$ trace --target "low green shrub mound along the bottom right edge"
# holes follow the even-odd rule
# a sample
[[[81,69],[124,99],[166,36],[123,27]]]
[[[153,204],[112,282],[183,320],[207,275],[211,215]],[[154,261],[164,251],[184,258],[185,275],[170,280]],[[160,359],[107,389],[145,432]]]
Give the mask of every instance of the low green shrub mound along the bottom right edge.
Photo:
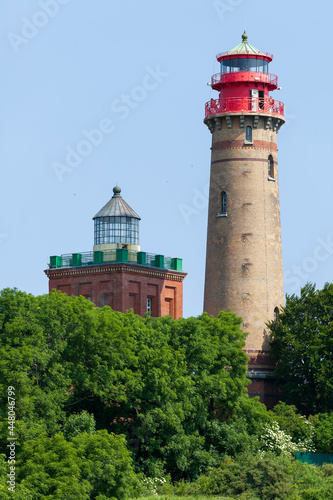
[[[241,455],[237,460],[223,460],[191,484],[180,482],[171,491],[164,491],[250,500],[330,500],[333,465],[319,468],[285,455]]]

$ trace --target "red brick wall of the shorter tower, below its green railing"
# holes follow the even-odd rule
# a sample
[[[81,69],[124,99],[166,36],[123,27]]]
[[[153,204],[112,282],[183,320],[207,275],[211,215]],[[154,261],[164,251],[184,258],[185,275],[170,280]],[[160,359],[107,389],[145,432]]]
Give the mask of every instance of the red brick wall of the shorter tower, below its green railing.
[[[99,307],[109,305],[125,313],[133,309],[144,316],[147,298],[152,301],[152,316],[183,315],[183,279],[177,271],[152,269],[131,264],[99,265],[48,269],[49,290],[67,295],[83,295]]]

